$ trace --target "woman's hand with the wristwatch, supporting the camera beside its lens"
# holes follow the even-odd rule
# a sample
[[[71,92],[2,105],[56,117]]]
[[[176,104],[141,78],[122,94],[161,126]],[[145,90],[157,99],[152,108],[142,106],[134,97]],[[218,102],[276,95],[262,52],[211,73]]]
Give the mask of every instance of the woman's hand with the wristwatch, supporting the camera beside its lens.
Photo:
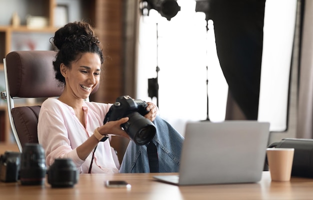
[[[122,130],[122,128],[120,127],[121,124],[124,124],[127,121],[128,121],[128,117],[124,117],[116,121],[106,122],[106,124],[98,128],[98,131],[101,135],[112,134],[112,135],[117,135],[117,136],[130,139],[128,134],[124,130]]]

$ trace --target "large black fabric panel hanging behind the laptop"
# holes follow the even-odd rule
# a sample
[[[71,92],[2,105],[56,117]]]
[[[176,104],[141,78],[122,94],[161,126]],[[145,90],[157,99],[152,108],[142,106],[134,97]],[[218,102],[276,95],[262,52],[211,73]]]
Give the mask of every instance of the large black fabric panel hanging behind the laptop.
[[[231,100],[241,110],[231,116],[226,111],[226,119],[242,119],[243,114],[257,120],[265,0],[207,2],[206,19],[213,20],[217,56],[228,84],[226,110],[231,110]]]

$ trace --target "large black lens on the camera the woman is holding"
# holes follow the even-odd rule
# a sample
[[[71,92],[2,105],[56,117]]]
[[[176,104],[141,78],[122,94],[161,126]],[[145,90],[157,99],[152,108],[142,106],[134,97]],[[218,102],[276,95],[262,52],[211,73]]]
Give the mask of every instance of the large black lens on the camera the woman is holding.
[[[138,112],[132,112],[126,117],[129,119],[122,127],[136,145],[145,145],[153,139],[156,129],[150,120]]]

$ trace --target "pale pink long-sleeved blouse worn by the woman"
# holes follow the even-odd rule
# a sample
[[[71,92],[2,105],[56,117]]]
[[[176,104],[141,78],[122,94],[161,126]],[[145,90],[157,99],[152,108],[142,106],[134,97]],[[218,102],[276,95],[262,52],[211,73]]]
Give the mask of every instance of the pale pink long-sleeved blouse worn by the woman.
[[[84,102],[84,128],[70,106],[54,98],[45,100],[39,113],[38,141],[45,151],[47,167],[52,165],[55,158],[70,158],[80,173],[88,173],[92,152],[83,161],[79,159],[76,148],[92,136],[97,127],[103,125],[110,106],[111,104]],[[118,173],[109,140],[98,143],[91,173]]]

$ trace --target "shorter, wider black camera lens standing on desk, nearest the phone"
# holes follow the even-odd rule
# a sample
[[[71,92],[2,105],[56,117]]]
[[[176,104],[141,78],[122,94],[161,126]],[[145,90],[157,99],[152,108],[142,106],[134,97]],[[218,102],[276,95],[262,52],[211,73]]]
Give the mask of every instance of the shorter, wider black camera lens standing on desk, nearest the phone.
[[[48,170],[52,188],[72,188],[78,181],[77,168],[71,159],[55,159]]]

